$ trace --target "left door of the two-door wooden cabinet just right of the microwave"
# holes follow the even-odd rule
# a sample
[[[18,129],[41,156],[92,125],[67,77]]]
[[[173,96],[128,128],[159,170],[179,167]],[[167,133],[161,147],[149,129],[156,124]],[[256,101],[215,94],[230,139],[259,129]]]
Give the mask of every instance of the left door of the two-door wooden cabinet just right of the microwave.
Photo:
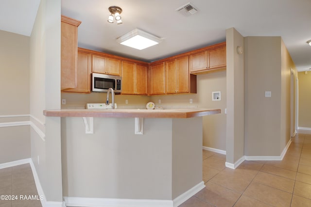
[[[122,61],[122,94],[135,94],[135,64]]]

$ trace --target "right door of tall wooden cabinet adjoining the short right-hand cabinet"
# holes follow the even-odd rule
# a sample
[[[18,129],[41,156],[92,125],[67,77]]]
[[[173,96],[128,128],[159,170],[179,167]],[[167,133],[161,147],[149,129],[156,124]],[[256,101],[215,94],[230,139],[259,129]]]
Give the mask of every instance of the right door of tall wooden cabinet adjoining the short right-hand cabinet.
[[[177,92],[189,92],[189,57],[176,59]]]

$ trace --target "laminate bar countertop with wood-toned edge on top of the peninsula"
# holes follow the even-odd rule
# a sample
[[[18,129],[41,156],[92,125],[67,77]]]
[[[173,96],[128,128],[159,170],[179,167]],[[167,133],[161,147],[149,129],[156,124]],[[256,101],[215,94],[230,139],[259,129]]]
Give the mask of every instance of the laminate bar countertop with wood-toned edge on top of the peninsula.
[[[66,109],[66,110],[44,110],[45,116],[59,117],[138,117],[138,118],[191,118],[221,113],[220,109]]]

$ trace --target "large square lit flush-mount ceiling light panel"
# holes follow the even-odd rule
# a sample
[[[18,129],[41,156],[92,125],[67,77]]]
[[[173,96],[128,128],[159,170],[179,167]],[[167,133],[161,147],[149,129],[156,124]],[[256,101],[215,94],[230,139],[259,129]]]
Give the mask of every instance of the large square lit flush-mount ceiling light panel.
[[[117,42],[121,45],[141,50],[159,44],[162,42],[162,39],[139,29],[135,29],[119,37]]]

